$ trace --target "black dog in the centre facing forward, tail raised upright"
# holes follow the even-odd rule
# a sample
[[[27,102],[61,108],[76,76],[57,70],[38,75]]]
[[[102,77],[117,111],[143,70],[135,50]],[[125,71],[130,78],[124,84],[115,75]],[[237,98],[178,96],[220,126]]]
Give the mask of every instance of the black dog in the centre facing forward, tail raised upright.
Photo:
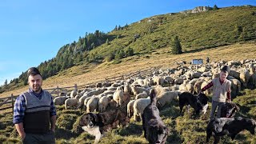
[[[150,90],[150,104],[146,106],[142,114],[142,126],[144,130],[144,137],[150,144],[166,143],[169,129],[162,122],[159,115],[156,94],[154,90]]]

